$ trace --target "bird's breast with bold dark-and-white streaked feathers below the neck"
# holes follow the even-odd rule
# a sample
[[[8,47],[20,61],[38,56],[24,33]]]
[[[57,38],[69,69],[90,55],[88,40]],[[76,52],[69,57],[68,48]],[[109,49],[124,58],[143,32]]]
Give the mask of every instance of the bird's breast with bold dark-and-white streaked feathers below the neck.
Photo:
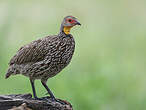
[[[47,63],[53,66],[64,68],[69,64],[75,49],[73,38],[64,38],[58,41],[52,50],[49,50]]]

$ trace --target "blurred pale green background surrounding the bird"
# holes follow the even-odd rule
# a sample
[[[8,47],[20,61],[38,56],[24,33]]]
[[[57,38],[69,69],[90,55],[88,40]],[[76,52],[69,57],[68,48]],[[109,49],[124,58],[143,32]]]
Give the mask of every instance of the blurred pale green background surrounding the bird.
[[[0,94],[32,93],[28,78],[5,80],[10,58],[33,40],[59,32],[66,15],[76,50],[48,86],[75,110],[145,110],[146,0],[1,0]],[[36,81],[38,96],[46,90]]]

